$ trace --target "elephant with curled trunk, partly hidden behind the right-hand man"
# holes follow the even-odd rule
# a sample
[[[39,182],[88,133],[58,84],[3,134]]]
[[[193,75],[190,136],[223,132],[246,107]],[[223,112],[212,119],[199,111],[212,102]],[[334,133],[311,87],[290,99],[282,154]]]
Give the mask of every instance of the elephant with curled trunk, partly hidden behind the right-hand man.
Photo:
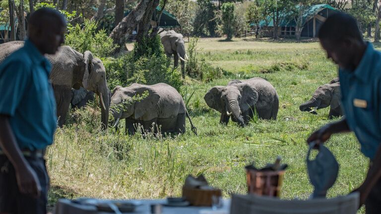
[[[324,84],[319,86],[312,95],[312,98],[300,105],[299,109],[301,111],[318,114],[316,113],[317,109],[326,108],[330,105],[331,108],[329,110],[328,119],[332,119],[333,116],[338,117],[343,115],[340,107],[340,98],[340,82]]]

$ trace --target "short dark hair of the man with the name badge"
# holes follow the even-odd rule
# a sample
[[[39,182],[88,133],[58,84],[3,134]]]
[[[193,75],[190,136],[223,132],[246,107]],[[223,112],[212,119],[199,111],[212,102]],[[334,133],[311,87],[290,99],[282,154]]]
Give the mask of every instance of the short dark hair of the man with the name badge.
[[[363,40],[356,20],[343,12],[336,12],[325,20],[319,29],[318,38],[330,41],[340,41],[345,38]]]

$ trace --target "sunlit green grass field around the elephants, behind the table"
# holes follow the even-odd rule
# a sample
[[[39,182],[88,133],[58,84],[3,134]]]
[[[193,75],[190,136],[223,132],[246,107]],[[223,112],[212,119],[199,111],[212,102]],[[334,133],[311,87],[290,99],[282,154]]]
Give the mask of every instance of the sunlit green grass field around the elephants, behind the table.
[[[306,139],[327,120],[329,109],[318,115],[300,112],[321,84],[336,76],[317,42],[289,43],[268,41],[219,42],[200,39],[199,59],[231,73],[208,83],[187,79],[192,121],[198,136],[191,132],[174,138],[140,135],[128,137],[112,130],[101,132],[99,109],[81,110],[78,122],[69,122],[56,133],[47,152],[52,185],[50,202],[59,197],[164,198],[181,195],[188,174],[204,173],[223,196],[246,193],[244,166],[263,166],[281,155],[289,164],[282,198],[307,199],[312,193],[306,170]],[[234,123],[222,126],[219,114],[208,108],[204,94],[215,85],[226,85],[233,78],[263,77],[279,95],[276,121],[259,120],[245,128]],[[124,124],[124,123],[121,123]],[[124,130],[121,128],[121,130]],[[367,172],[368,160],[359,151],[351,134],[336,135],[326,145],[336,156],[339,176],[328,196],[345,195],[358,187]],[[361,211],[360,213],[363,213]]]

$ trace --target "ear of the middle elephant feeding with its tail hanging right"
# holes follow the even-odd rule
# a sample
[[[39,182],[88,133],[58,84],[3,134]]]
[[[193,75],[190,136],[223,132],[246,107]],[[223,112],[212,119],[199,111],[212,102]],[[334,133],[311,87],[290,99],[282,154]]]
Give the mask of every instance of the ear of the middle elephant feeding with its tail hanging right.
[[[135,94],[141,95],[144,91],[148,91],[148,96],[143,100],[136,102],[134,105],[135,119],[142,117],[147,111],[152,111],[160,99],[160,95],[151,89],[145,88],[141,91],[136,91]]]

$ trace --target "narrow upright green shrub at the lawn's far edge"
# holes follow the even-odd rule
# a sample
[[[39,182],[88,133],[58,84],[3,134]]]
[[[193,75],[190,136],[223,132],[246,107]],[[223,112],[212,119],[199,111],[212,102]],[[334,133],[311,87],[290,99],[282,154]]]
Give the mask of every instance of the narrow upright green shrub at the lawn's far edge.
[[[227,2],[221,6],[223,32],[226,34],[226,40],[232,40],[235,32],[235,6],[234,3]]]

